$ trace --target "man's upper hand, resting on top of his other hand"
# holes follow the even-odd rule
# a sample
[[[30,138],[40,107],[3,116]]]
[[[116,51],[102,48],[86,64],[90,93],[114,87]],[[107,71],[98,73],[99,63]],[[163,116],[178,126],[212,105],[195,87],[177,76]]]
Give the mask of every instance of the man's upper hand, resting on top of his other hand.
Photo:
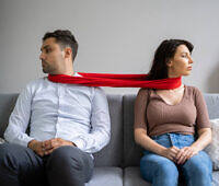
[[[45,149],[44,154],[48,155],[50,154],[55,149],[61,147],[61,146],[76,146],[71,141],[64,140],[61,138],[54,138],[50,140],[43,141],[43,148]]]

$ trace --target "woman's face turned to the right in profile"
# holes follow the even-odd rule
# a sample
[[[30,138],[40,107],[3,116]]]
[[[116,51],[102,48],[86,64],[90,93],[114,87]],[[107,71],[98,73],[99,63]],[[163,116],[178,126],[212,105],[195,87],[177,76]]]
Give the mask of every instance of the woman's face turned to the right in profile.
[[[169,78],[191,74],[193,59],[186,45],[180,45],[174,57],[166,65]]]

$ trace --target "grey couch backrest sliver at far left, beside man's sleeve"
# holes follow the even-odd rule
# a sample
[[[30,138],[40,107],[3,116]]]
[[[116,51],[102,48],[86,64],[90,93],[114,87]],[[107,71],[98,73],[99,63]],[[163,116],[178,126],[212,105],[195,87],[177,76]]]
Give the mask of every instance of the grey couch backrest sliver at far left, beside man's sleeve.
[[[0,94],[0,138],[3,138],[16,98],[18,94]]]

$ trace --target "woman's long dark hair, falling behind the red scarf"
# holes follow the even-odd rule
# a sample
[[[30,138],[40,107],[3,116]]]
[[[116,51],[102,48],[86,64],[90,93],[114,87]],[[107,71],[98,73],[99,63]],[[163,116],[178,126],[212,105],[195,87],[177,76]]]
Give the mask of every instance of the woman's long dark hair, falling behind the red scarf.
[[[148,80],[159,80],[168,78],[168,62],[174,57],[180,45],[185,45],[188,50],[193,51],[193,44],[182,39],[165,39],[155,50],[151,70],[149,71]]]

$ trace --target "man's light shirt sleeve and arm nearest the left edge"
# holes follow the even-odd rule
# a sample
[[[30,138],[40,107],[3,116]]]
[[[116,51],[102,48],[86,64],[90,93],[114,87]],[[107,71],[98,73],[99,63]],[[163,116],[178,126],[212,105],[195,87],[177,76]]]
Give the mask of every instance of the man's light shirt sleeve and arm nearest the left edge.
[[[33,140],[25,133],[31,116],[31,103],[32,93],[31,88],[27,85],[19,95],[15,107],[9,118],[9,125],[4,132],[4,139],[8,142],[27,147],[27,143]]]

